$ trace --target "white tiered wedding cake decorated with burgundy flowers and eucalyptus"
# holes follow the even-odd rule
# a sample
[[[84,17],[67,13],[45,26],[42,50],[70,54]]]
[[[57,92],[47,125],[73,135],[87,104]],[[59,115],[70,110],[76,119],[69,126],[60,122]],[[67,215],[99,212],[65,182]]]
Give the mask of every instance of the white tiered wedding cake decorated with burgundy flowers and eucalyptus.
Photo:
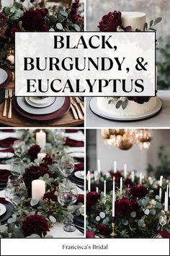
[[[132,31],[145,29],[146,14],[143,12],[122,12],[122,26],[131,27]],[[126,107],[116,107],[117,101],[128,101]],[[112,114],[113,116],[138,116],[140,114],[147,114],[156,108],[156,97],[98,97],[97,106],[104,112]]]

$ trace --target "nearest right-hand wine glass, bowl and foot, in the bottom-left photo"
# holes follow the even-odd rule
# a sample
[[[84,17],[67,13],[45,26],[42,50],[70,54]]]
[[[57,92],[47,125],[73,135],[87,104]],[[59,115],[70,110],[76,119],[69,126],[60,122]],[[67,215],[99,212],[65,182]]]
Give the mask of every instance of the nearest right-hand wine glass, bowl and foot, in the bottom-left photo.
[[[78,191],[76,188],[76,184],[72,182],[61,183],[58,186],[58,202],[62,206],[68,207],[68,205],[73,205],[76,202],[78,197]],[[63,230],[66,232],[73,232],[76,230],[75,226],[73,226],[72,220],[69,219],[68,223],[63,227]]]

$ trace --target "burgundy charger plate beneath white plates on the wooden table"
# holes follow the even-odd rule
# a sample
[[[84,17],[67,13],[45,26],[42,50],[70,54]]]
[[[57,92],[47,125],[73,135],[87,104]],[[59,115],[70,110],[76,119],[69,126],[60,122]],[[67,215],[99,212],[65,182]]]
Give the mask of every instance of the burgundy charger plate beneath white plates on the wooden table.
[[[14,109],[22,116],[27,117],[28,119],[33,119],[37,121],[48,121],[48,120],[53,120],[53,119],[58,119],[59,117],[63,116],[68,112],[71,106],[71,100],[69,97],[65,97],[63,106],[59,108],[57,111],[51,113],[51,114],[45,114],[45,115],[34,115],[34,114],[29,114],[26,111],[22,110],[17,104],[17,98],[13,98],[13,106]]]

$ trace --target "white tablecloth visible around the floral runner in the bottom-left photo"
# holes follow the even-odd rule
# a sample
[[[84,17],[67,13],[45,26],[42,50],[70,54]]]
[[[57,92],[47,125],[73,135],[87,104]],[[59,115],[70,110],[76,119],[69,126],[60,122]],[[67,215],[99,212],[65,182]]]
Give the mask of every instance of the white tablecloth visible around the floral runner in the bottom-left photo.
[[[18,137],[18,133],[17,132],[0,132],[0,140],[3,140],[7,137]],[[81,131],[71,132],[71,133],[67,132],[66,137],[69,137],[73,140],[83,140],[84,141],[84,134]],[[67,151],[84,152],[84,147],[77,147],[77,148],[68,147]],[[0,164],[0,169],[1,168],[6,168],[6,169],[9,170],[10,165]],[[79,194],[84,194],[84,191],[82,189],[80,189],[79,187],[77,187],[77,189],[78,189]],[[5,197],[5,191],[4,190],[0,191],[0,197]],[[61,237],[63,237],[63,238],[81,238],[81,237],[84,237],[84,234],[82,234],[77,229],[76,229],[76,231],[71,232],[71,233],[64,231],[63,226],[64,226],[63,223],[56,223],[55,226],[53,226],[53,228],[50,229],[48,234],[52,235],[53,237],[56,237],[56,238],[61,238]]]

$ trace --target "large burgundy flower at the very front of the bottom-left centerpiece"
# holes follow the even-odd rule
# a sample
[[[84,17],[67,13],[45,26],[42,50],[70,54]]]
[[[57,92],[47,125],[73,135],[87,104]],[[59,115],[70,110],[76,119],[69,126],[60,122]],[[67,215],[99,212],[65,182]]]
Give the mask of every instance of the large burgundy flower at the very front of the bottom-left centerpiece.
[[[22,221],[22,230],[24,231],[24,236],[38,234],[41,237],[42,235],[45,236],[47,231],[50,231],[48,221],[38,214],[27,216],[24,221]]]

